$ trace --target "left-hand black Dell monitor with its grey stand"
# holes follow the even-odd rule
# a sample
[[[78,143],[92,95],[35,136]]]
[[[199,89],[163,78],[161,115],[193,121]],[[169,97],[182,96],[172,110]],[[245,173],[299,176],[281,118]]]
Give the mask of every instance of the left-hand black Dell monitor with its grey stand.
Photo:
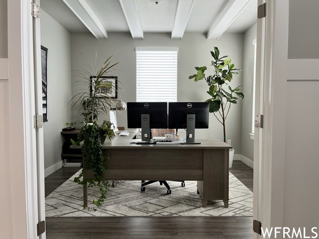
[[[142,128],[142,140],[151,141],[151,128],[167,128],[166,102],[128,102],[128,128]]]

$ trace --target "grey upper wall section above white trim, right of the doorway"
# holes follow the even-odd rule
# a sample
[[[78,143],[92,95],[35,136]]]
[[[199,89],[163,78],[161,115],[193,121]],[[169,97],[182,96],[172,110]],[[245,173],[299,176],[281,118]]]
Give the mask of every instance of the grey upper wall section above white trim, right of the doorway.
[[[289,1],[289,59],[319,59],[319,1]]]

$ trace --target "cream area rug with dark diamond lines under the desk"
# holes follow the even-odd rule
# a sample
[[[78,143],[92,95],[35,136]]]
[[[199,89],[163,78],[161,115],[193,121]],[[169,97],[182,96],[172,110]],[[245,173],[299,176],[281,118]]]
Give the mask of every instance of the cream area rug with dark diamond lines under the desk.
[[[208,202],[202,207],[196,193],[196,181],[168,181],[171,194],[166,194],[159,182],[146,186],[141,192],[141,181],[117,181],[110,187],[103,205],[94,211],[92,199],[97,199],[98,189],[88,189],[89,209],[83,209],[83,187],[73,182],[74,174],[45,198],[46,217],[108,217],[108,216],[252,216],[253,193],[233,174],[229,173],[229,207],[223,201]]]

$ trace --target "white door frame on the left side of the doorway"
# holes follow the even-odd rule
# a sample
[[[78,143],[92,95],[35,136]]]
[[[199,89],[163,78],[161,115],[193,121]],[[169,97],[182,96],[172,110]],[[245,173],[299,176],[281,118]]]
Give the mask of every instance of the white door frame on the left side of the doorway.
[[[40,239],[37,236],[39,208],[36,129],[33,119],[35,99],[31,2],[7,1],[10,119],[8,140],[13,196],[11,230],[14,238],[20,239]]]

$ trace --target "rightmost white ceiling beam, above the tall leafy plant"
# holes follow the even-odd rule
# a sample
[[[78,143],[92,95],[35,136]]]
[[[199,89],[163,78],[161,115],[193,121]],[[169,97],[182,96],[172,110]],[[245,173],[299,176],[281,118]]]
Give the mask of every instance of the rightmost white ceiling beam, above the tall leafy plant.
[[[207,33],[207,39],[218,39],[251,0],[229,0]]]

